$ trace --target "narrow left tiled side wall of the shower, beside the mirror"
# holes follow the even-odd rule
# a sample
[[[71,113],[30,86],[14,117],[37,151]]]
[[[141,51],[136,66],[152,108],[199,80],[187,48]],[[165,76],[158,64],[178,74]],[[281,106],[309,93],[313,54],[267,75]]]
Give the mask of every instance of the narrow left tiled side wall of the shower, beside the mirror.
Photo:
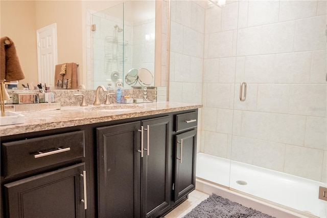
[[[202,103],[206,1],[171,1],[169,101]],[[197,149],[201,142],[201,108]]]

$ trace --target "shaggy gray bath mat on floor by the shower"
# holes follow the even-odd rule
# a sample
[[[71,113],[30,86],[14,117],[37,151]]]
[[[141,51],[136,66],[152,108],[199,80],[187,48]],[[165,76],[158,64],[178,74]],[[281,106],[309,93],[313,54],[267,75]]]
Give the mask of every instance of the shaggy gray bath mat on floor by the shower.
[[[262,213],[252,208],[244,207],[236,202],[224,199],[217,194],[212,194],[209,198],[202,201],[184,218],[216,218],[216,217],[264,217],[272,218],[273,216]]]

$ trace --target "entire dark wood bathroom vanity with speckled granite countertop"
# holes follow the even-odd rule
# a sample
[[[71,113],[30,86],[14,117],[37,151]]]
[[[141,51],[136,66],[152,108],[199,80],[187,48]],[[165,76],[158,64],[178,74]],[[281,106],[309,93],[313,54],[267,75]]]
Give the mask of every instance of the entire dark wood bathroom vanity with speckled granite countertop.
[[[1,126],[1,217],[159,217],[195,189],[199,104],[69,106]]]

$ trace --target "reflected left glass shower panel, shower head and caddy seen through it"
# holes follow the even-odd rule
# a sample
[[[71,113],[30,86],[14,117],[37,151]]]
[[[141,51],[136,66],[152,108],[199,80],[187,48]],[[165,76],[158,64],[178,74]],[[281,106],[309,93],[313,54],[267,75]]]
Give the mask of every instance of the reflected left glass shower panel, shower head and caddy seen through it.
[[[123,79],[124,72],[124,4],[120,4],[92,15],[96,31],[93,32],[94,89]]]

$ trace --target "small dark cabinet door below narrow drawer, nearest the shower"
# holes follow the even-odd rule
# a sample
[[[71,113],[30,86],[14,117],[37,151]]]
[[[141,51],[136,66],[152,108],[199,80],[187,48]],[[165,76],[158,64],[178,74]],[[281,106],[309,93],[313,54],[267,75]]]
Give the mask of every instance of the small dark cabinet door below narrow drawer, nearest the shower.
[[[176,136],[174,201],[195,189],[196,129]]]

